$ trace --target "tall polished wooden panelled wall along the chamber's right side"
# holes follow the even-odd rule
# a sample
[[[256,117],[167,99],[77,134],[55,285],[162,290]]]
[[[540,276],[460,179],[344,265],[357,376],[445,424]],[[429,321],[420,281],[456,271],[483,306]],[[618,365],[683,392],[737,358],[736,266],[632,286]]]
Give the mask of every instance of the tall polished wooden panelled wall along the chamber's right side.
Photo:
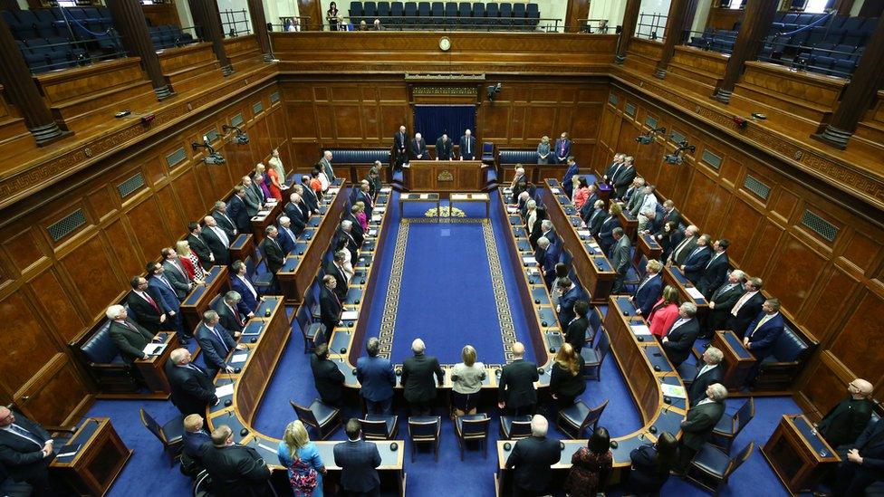
[[[617,86],[601,119],[594,167],[615,151],[632,154],[639,174],[658,186],[703,233],[728,238],[730,260],[782,301],[788,316],[820,341],[818,352],[797,378],[796,400],[825,413],[845,395],[853,378],[867,378],[876,397],[884,394],[884,230],[851,212],[833,190],[763,153],[735,148],[658,106],[656,100]],[[667,128],[641,146],[647,119]],[[684,164],[662,161],[675,130],[697,147]],[[720,158],[720,164],[718,160]],[[766,198],[745,186],[746,178],[770,188]],[[799,179],[800,178],[800,179]],[[751,181],[751,180],[750,180]],[[830,242],[802,223],[806,211],[837,228]],[[878,218],[880,221],[880,218]]]

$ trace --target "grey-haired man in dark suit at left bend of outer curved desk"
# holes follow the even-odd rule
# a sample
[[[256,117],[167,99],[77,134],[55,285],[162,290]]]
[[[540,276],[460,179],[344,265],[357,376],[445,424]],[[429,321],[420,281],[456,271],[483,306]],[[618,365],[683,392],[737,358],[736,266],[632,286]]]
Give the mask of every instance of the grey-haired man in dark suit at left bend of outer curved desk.
[[[190,359],[189,350],[175,349],[166,361],[166,378],[172,394],[172,404],[185,416],[205,416],[206,407],[209,404],[216,406],[220,401],[215,395],[212,378]]]

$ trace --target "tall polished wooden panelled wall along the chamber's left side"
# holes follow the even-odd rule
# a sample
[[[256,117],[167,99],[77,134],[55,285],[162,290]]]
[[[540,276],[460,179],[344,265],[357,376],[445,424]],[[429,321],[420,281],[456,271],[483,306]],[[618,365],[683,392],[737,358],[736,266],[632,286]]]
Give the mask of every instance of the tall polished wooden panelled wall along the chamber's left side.
[[[91,380],[68,343],[91,330],[107,306],[130,290],[130,278],[187,234],[190,221],[206,215],[239,177],[284,145],[288,133],[278,94],[275,82],[256,86],[242,99],[191,116],[153,144],[121,151],[50,188],[54,192],[38,194],[47,201],[31,212],[7,209],[5,215],[19,218],[0,230],[0,402],[14,400],[45,424],[82,414]],[[211,129],[222,133],[221,126],[237,117],[250,143],[216,139],[226,164],[203,163],[204,149],[195,153],[190,144]],[[168,156],[182,148],[183,160],[169,167]],[[118,186],[137,174],[144,186],[121,197]],[[65,186],[71,191],[49,200]],[[47,226],[78,209],[85,225],[53,242]]]

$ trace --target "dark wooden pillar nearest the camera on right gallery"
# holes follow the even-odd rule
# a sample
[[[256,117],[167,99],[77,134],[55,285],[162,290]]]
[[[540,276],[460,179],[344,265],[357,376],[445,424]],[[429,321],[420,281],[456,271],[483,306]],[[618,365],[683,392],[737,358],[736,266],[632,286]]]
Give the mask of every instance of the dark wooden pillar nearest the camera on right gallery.
[[[850,78],[838,109],[831,116],[822,133],[812,135],[835,148],[847,148],[847,140],[856,131],[857,123],[869,110],[872,101],[884,86],[884,23],[878,22],[875,32],[866,41],[860,65]]]

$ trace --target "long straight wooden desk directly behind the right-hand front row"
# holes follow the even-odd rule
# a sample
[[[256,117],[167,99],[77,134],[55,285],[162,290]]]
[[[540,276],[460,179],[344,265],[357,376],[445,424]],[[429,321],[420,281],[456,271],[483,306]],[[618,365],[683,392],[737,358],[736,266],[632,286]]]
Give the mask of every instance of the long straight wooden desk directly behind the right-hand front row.
[[[556,194],[555,191],[560,193]],[[571,200],[559,190],[557,179],[546,180],[543,203],[546,205],[546,213],[550,216],[556,233],[562,237],[564,248],[571,251],[574,256],[572,264],[581,277],[583,289],[590,293],[590,303],[604,305],[608,301],[617,273],[591,234],[577,233],[578,230],[583,231],[580,227],[580,215],[571,204]]]

